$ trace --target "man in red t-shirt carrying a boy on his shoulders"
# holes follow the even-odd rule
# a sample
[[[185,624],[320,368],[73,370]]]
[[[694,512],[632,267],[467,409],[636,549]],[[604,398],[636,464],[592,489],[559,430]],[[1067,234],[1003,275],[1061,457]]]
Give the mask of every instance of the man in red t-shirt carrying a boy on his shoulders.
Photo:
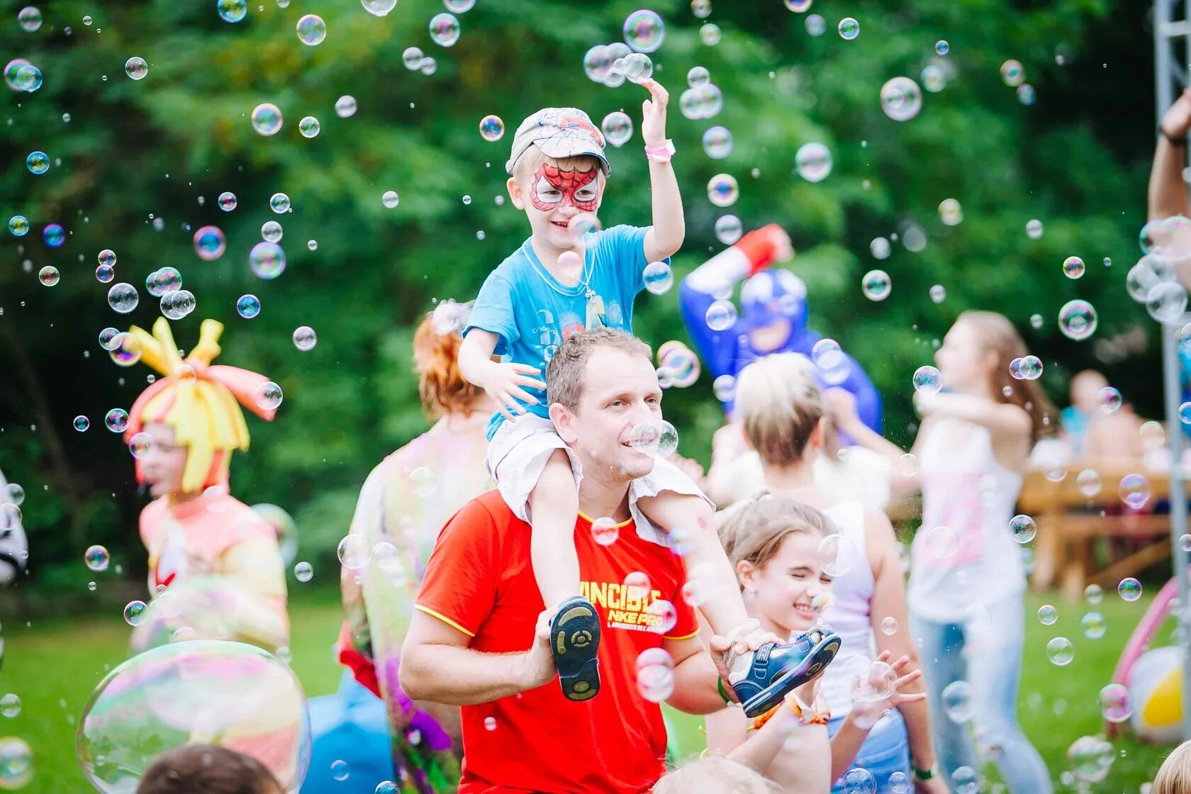
[[[530,525],[495,490],[464,505],[430,557],[400,669],[411,698],[462,706],[462,793],[641,794],[665,771],[666,729],[653,701],[696,714],[724,707],[717,673],[727,679],[727,670],[718,652],[713,662],[705,651],[681,596],[681,557],[640,537],[629,514],[629,483],[653,465],[629,445],[629,433],[661,418],[649,348],[597,330],[563,349],[548,373],[550,393],[569,379],[580,394],[573,408],[555,405],[551,414],[582,465],[575,548],[581,593],[600,621],[601,690],[575,702],[551,683],[557,671],[530,563]],[[593,534],[599,517],[617,523],[615,543],[597,543],[612,532]],[[717,638],[716,646],[727,643]],[[673,659],[672,693],[659,670],[638,688],[638,657],[650,649]]]

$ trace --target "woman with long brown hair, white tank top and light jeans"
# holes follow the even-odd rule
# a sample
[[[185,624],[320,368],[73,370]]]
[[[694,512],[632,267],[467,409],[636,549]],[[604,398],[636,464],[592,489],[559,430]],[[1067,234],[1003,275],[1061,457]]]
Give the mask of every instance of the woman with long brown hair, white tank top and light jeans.
[[[1046,764],[1016,713],[1025,571],[1009,521],[1049,409],[1036,382],[1009,374],[1025,355],[1012,324],[993,312],[961,314],[935,354],[944,390],[915,396],[923,501],[909,594],[943,773],[980,769],[971,721],[1011,792],[1049,794]],[[958,681],[968,686],[953,693],[968,695],[953,700],[948,717],[943,690]]]

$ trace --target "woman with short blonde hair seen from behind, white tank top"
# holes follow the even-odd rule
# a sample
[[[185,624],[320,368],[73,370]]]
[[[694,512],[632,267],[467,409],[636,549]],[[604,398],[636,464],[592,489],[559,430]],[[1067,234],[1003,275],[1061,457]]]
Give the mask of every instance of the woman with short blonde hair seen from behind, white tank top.
[[[805,356],[766,356],[737,377],[736,414],[747,444],[760,456],[763,486],[774,495],[821,509],[847,538],[837,561],[835,601],[824,612],[827,623],[843,638],[840,654],[823,674],[834,734],[852,708],[853,677],[865,674],[872,659],[881,651],[893,658],[909,656],[909,673],[918,668],[918,657],[906,619],[893,527],[880,511],[823,486],[823,412],[815,368]],[[875,632],[874,625],[880,627]],[[916,780],[919,792],[944,793],[947,787],[934,776],[934,765],[924,702],[903,704],[878,721],[853,764],[873,775],[880,793],[904,790],[899,782],[908,780]],[[843,786],[837,782],[834,790],[842,792]]]

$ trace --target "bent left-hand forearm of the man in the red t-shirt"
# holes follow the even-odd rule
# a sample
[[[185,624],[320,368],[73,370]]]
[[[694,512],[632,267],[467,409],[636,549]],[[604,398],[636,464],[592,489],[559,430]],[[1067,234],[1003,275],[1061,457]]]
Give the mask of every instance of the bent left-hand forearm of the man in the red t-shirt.
[[[401,649],[401,689],[413,700],[475,706],[532,689],[528,652],[482,654],[456,645]]]

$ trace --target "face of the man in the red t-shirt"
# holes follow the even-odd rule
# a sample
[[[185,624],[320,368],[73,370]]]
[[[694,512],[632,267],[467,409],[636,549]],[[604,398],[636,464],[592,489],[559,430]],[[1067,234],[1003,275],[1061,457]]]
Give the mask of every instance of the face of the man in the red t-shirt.
[[[653,471],[654,458],[629,439],[642,423],[662,418],[657,374],[644,356],[600,346],[587,358],[584,390],[574,411],[561,407],[559,434],[579,455],[584,471],[635,480]]]

